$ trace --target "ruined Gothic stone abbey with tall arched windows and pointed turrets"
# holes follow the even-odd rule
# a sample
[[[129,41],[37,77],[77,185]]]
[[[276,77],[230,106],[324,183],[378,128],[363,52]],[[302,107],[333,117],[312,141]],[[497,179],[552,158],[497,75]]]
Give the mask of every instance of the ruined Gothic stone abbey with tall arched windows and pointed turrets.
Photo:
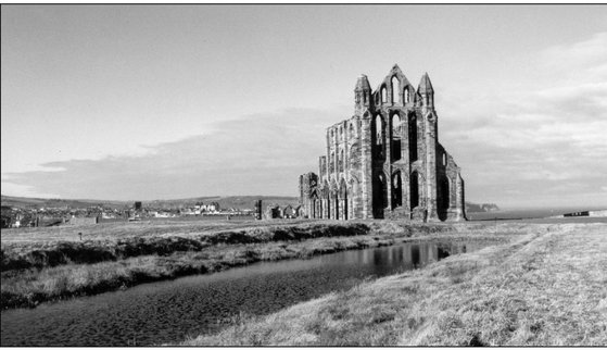
[[[466,220],[464,179],[439,143],[428,74],[417,91],[397,65],[375,91],[362,75],[354,100],[354,115],[327,128],[318,175],[300,176],[306,216]]]

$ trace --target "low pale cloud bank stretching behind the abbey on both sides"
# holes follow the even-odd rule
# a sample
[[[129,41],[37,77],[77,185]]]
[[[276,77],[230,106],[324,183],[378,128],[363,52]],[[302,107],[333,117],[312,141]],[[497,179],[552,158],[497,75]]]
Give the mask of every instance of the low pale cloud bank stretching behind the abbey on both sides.
[[[516,85],[438,91],[440,140],[463,168],[467,199],[502,207],[607,205],[605,62],[607,33],[599,33],[538,52],[526,62],[538,75]],[[144,154],[3,174],[3,188],[99,199],[295,196],[298,176],[317,171],[326,127],[349,113],[344,107],[250,114],[200,136],[147,146]]]

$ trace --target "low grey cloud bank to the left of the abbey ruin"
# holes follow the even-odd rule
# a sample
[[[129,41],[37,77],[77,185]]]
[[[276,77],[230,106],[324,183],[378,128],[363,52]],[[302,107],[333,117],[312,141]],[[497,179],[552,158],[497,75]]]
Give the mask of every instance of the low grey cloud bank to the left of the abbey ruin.
[[[3,174],[2,182],[65,198],[156,199],[203,195],[291,195],[315,171],[332,111],[291,109],[213,125],[200,136],[147,146],[143,155],[42,164],[60,172]],[[3,186],[4,187],[4,186]]]

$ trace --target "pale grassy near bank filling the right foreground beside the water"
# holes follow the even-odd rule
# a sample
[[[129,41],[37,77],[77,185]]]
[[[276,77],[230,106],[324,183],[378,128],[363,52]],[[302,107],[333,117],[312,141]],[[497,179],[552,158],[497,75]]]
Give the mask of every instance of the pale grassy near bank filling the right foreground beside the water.
[[[507,243],[179,346],[605,346],[607,225],[517,229]]]

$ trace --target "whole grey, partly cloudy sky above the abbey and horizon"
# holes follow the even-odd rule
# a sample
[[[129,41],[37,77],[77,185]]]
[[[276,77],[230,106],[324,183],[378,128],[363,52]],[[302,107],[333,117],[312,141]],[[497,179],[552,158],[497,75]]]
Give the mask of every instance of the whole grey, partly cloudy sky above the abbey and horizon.
[[[4,196],[298,196],[399,64],[466,200],[607,207],[607,5],[2,5]]]

